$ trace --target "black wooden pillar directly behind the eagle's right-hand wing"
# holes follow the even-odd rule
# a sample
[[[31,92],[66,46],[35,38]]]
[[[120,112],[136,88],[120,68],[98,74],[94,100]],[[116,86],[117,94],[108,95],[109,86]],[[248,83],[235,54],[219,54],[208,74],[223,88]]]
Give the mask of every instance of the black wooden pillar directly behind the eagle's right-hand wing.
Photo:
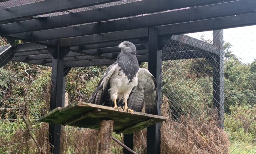
[[[157,115],[161,115],[162,49],[159,48],[158,28],[148,28],[148,70],[155,77],[158,87]],[[156,124],[147,128],[147,154],[160,154],[160,126]]]

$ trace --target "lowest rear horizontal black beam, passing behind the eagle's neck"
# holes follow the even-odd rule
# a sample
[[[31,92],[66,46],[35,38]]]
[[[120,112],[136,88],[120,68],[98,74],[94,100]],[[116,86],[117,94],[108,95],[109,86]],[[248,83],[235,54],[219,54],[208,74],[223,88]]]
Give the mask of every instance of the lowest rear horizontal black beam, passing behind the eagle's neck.
[[[182,50],[182,49],[180,49]],[[137,52],[137,59],[139,63],[141,62],[148,62],[148,51],[147,50],[138,50]],[[78,55],[75,57],[69,56],[65,57],[65,63],[64,66],[66,67],[86,67],[86,66],[101,66],[101,65],[111,65],[114,63],[114,58],[117,57],[117,55],[112,55],[110,53],[107,53],[107,55],[110,58],[113,58],[112,60],[100,58],[96,56],[88,56],[88,55]],[[103,54],[102,56],[106,56]],[[162,60],[181,60],[181,59],[195,59],[195,58],[209,58],[212,54],[205,52],[205,51],[198,51],[198,50],[188,50],[188,51],[179,51],[179,52],[168,52],[168,53],[162,53]],[[43,66],[52,66],[52,59],[29,59],[24,57],[24,59],[18,59],[17,57],[13,57],[13,61],[18,62],[25,62],[29,64],[37,64],[37,65],[43,65]]]

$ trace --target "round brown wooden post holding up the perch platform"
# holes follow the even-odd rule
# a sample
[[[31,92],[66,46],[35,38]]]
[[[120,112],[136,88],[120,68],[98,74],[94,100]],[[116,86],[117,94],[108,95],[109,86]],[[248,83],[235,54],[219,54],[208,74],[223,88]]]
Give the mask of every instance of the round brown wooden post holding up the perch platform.
[[[113,120],[101,120],[97,138],[96,154],[110,154],[113,132]]]

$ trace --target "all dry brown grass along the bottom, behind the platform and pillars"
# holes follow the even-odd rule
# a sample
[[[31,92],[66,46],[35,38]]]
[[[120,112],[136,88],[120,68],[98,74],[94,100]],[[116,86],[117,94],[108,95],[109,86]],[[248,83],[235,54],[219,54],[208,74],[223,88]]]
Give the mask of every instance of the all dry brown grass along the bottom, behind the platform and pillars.
[[[162,101],[162,115],[168,117],[161,126],[161,153],[162,154],[184,154],[184,153],[229,153],[230,142],[225,132],[218,128],[214,120],[214,114],[211,118],[201,115],[198,119],[189,116],[181,116],[179,121],[174,121],[170,117],[170,109],[167,98]],[[49,153],[50,144],[48,139],[49,126],[42,123],[40,128],[34,130],[36,141],[38,142],[41,153]],[[122,135],[114,136],[123,141]],[[146,129],[134,134],[134,149],[139,154],[146,153]],[[2,138],[2,137],[1,137]],[[3,138],[2,138],[3,139]],[[61,135],[61,153],[63,154],[91,154],[96,153],[97,130],[78,129],[66,126],[62,129]],[[16,131],[11,142],[0,141],[0,145],[10,144],[6,147],[0,147],[11,153],[40,153],[36,143],[31,140],[27,130]],[[14,145],[12,145],[14,143]],[[15,144],[21,143],[21,144]],[[112,142],[112,153],[121,154],[123,148]]]

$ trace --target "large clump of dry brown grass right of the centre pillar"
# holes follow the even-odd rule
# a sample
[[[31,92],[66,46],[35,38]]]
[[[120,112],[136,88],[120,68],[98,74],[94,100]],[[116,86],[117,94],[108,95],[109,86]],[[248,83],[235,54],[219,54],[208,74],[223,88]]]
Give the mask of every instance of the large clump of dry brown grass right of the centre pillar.
[[[161,153],[229,153],[227,134],[217,126],[214,114],[211,118],[201,115],[200,119],[181,116],[179,122],[170,115],[167,98],[162,101],[162,115],[169,117],[161,126]]]

